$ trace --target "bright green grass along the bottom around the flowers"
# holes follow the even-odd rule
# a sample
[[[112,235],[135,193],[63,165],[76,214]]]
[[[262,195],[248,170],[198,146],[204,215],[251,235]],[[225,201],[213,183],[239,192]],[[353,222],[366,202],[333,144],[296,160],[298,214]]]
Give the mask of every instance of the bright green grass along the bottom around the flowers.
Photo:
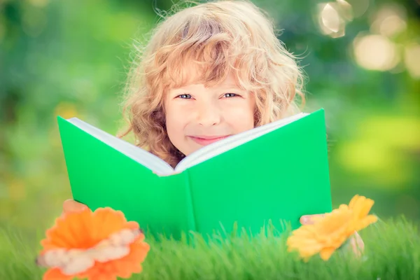
[[[365,253],[355,258],[344,247],[324,262],[318,255],[305,263],[286,252],[285,237],[267,235],[200,236],[187,242],[148,239],[151,251],[144,272],[132,279],[403,279],[420,280],[420,235],[404,218],[379,221],[360,232]],[[40,235],[29,237],[0,228],[0,279],[41,279],[34,259]],[[193,244],[192,244],[193,243]]]

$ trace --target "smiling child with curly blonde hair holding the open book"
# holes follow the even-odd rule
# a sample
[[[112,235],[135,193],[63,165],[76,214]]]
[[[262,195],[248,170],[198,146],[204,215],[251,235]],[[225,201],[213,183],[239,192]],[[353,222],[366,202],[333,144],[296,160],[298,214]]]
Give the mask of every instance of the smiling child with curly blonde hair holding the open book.
[[[124,108],[129,127],[120,137],[133,132],[137,146],[172,167],[202,146],[293,115],[297,99],[304,102],[295,57],[248,1],[202,3],[169,16],[137,58]],[[67,200],[63,208],[83,207]]]

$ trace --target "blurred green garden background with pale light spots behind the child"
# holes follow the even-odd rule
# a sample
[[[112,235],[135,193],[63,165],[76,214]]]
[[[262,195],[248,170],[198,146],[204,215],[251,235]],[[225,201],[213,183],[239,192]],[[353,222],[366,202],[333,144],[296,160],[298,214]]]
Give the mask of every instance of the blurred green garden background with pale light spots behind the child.
[[[334,207],[360,194],[381,218],[420,221],[420,1],[254,3],[302,57],[307,111],[325,108]],[[0,0],[0,225],[59,216],[71,192],[56,116],[116,134],[132,43],[171,6]]]

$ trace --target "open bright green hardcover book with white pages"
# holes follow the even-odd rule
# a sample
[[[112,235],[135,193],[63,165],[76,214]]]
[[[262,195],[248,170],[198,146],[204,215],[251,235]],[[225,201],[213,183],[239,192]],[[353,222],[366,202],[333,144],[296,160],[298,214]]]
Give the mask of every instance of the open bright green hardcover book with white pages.
[[[73,199],[123,211],[153,235],[230,233],[235,223],[254,235],[332,211],[323,109],[204,146],[175,169],[78,118],[57,120]]]

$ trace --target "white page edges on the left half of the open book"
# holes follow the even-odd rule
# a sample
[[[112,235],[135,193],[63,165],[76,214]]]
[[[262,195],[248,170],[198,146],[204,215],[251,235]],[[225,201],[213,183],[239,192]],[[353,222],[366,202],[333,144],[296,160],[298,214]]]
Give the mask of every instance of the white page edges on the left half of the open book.
[[[174,169],[167,162],[142,148],[134,146],[123,139],[99,130],[99,128],[89,125],[78,118],[70,118],[67,121],[154,172],[159,174],[171,174],[174,172]]]

